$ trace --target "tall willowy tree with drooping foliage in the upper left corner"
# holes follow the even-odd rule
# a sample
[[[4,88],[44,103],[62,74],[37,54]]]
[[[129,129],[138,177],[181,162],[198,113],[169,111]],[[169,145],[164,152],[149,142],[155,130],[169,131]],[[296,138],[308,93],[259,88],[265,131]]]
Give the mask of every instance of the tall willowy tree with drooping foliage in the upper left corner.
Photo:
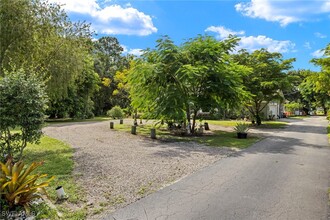
[[[46,83],[51,99],[67,96],[90,53],[91,31],[71,22],[61,7],[42,0],[0,0],[0,75],[33,69]]]

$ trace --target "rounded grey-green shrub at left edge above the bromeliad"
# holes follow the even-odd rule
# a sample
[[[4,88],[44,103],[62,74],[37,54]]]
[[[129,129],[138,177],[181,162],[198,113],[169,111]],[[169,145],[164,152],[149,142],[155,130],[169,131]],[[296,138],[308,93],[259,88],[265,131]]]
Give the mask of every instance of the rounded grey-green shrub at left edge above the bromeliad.
[[[27,143],[38,143],[44,122],[44,86],[33,72],[6,72],[0,79],[0,160],[21,159]]]

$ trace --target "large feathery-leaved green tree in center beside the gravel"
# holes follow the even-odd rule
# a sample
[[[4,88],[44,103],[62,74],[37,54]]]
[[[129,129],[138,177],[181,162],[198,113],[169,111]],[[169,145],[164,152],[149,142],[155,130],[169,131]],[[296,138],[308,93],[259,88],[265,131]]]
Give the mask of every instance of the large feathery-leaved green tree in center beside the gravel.
[[[238,104],[245,94],[239,74],[247,69],[229,55],[237,41],[198,36],[178,47],[167,36],[157,40],[129,74],[132,105],[147,118],[187,122],[194,133],[199,110]]]

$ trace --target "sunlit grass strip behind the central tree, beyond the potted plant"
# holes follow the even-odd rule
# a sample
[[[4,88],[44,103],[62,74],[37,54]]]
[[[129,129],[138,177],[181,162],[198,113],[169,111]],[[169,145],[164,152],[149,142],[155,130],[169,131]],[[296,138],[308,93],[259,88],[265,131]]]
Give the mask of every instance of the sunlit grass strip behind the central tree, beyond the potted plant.
[[[220,125],[224,127],[234,127],[238,122],[251,124],[251,122],[246,122],[243,120],[206,120],[206,122],[210,125]],[[262,124],[260,126],[256,126],[256,128],[280,129],[285,128],[287,124],[288,123],[284,121],[262,121]]]

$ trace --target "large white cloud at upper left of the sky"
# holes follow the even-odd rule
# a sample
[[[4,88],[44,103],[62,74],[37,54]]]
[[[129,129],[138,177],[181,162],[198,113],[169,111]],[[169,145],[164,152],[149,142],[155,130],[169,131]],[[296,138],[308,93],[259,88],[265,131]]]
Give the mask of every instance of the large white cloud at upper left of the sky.
[[[90,19],[92,28],[103,34],[125,34],[146,36],[157,32],[150,15],[140,12],[130,4],[102,6],[96,0],[52,0],[63,4],[67,12],[84,14]]]

